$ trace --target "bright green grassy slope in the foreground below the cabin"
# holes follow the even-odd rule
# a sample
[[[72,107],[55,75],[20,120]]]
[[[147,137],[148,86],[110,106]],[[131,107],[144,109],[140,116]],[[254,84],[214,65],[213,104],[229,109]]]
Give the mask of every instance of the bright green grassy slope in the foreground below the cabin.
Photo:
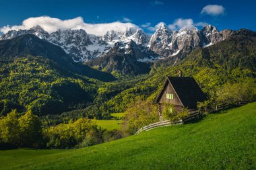
[[[0,169],[255,169],[256,103],[74,150],[0,151]]]

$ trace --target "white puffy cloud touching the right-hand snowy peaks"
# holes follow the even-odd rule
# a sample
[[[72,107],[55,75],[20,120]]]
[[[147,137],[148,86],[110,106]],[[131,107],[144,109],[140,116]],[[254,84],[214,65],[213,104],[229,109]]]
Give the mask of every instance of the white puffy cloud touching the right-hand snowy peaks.
[[[170,28],[170,30],[179,30],[181,28],[192,29],[197,26],[205,26],[205,25],[207,25],[207,23],[205,22],[194,23],[193,19],[191,18],[189,19],[178,18],[178,19],[175,19],[172,24],[168,25],[168,28]]]

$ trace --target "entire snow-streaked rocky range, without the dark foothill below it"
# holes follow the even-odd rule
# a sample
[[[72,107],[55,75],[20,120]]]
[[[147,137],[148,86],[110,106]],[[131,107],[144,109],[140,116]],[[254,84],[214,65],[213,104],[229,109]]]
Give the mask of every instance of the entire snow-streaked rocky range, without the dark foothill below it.
[[[86,62],[110,54],[130,54],[138,61],[153,61],[160,58],[186,56],[194,48],[206,47],[224,40],[232,30],[219,32],[214,26],[170,30],[165,24],[150,37],[142,30],[127,28],[124,32],[108,31],[103,36],[87,34],[85,30],[57,30],[45,32],[40,26],[30,30],[9,31],[0,40],[7,40],[21,34],[34,34],[38,38],[61,46],[75,62]]]

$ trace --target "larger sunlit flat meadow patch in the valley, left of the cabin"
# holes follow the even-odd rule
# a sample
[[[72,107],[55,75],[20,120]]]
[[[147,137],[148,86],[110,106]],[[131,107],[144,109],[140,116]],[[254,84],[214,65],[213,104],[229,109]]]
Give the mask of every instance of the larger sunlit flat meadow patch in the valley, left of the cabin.
[[[96,120],[96,124],[107,130],[121,129],[123,120]]]

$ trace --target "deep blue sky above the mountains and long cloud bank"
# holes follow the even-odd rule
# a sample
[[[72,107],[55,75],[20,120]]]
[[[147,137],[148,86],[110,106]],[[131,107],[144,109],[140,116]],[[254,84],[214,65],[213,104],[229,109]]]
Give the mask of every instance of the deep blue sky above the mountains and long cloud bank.
[[[216,5],[208,6],[207,5]],[[0,28],[20,26],[24,19],[49,16],[61,21],[80,17],[86,24],[129,22],[153,32],[164,22],[173,30],[212,24],[218,30],[256,30],[256,1],[60,1],[0,0]],[[203,9],[203,7],[205,7]],[[216,8],[214,8],[216,7]],[[187,25],[186,25],[187,24]]]

